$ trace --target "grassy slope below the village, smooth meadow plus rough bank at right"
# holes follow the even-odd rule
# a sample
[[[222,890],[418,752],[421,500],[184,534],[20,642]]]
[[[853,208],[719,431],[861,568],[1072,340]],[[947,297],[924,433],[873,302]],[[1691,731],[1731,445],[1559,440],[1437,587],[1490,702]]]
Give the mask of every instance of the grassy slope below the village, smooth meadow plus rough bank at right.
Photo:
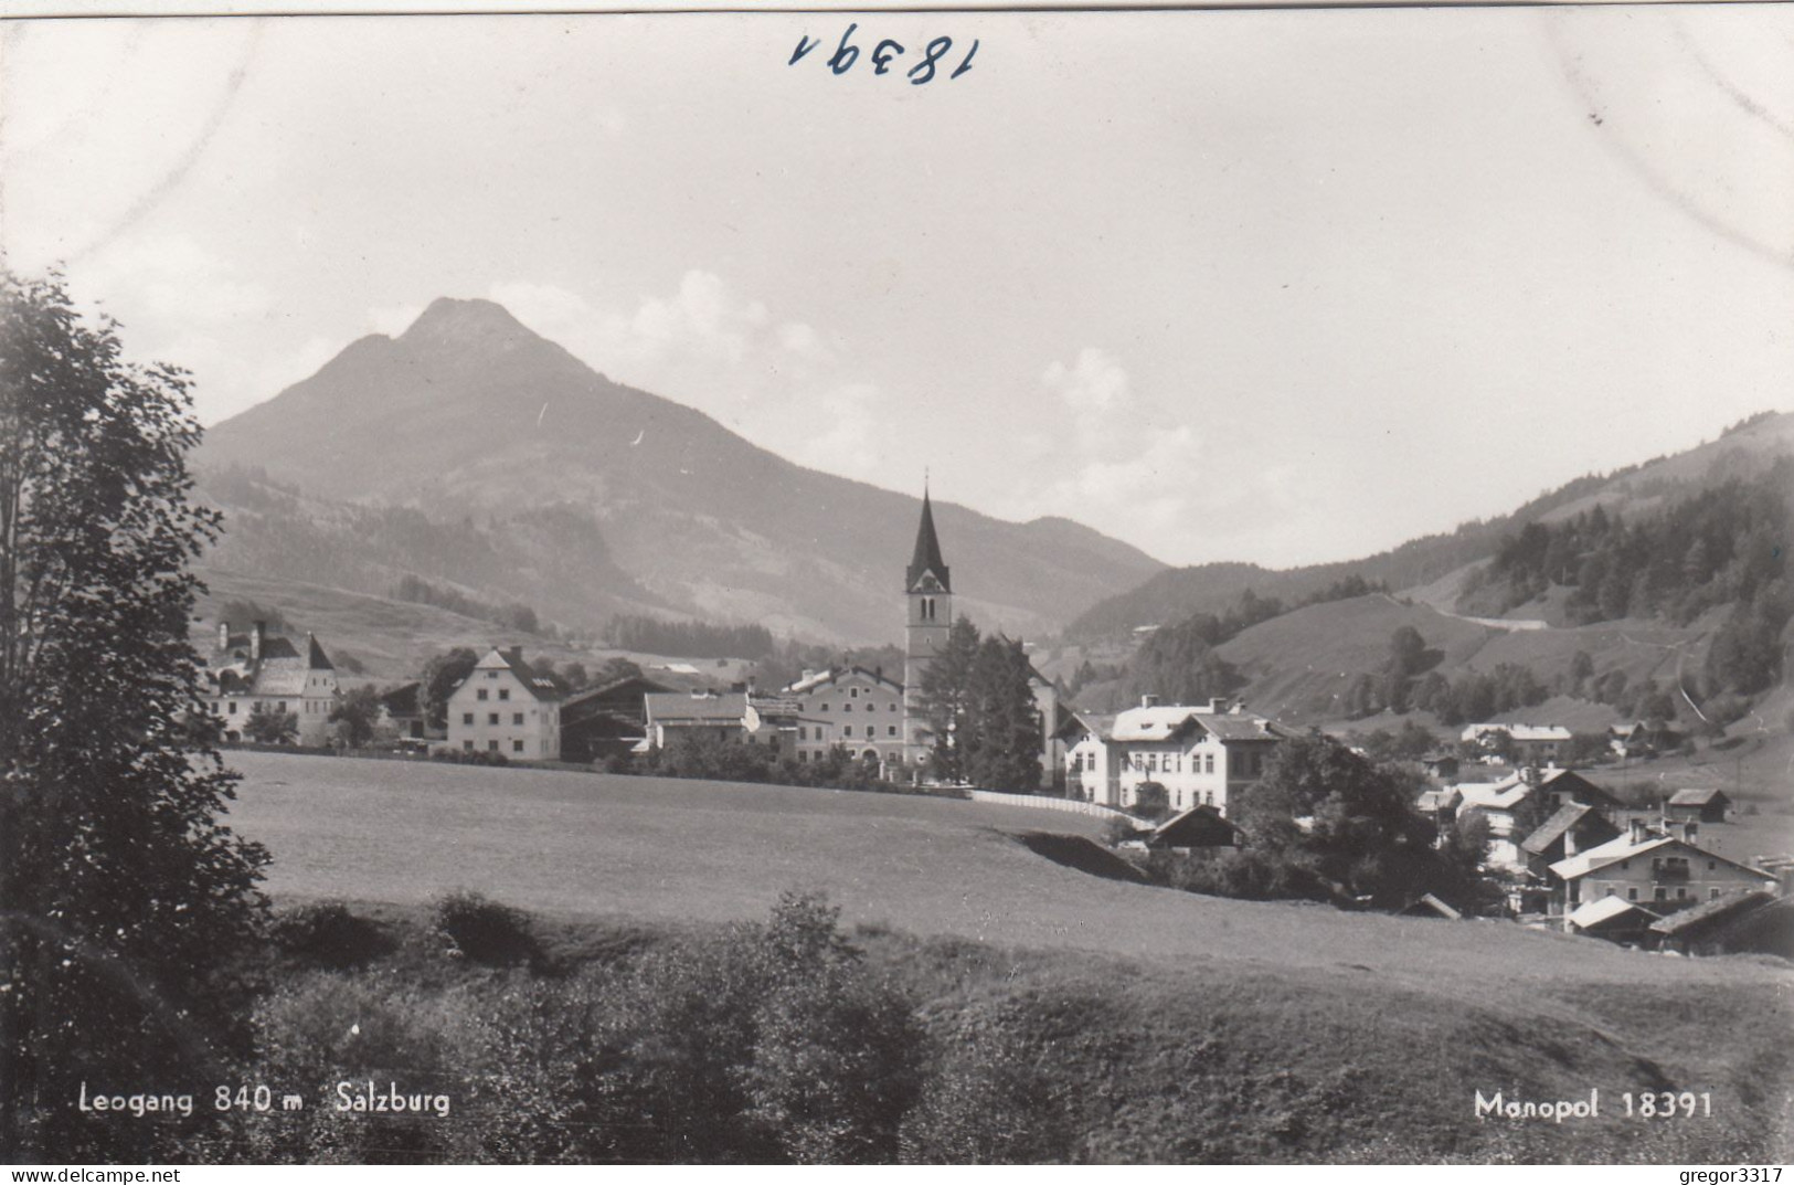
[[[273,847],[276,901],[359,900],[357,912],[391,935],[344,988],[303,995],[319,1007],[393,1000],[423,1025],[466,1013],[504,1031],[518,1002],[603,998],[651,952],[680,941],[709,950],[712,926],[764,917],[782,889],[829,894],[872,971],[920,1022],[927,1056],[904,1120],[910,1158],[1686,1163],[1790,1151],[1789,1052],[1758,1040],[1794,1022],[1794,980],[1774,961],[1663,959],[1503,923],[1100,880],[1017,842],[1023,831],[1091,830],[1049,812],[231,759],[246,772],[235,821]],[[456,885],[536,914],[540,991],[524,971],[443,961],[418,905]],[[422,1007],[405,984],[431,984],[440,1002]],[[563,1040],[540,1014],[518,1022]],[[318,1023],[341,1022],[318,1013]],[[477,1052],[454,1049],[452,1061],[477,1074]],[[1478,1090],[1552,1101],[1591,1088],[1602,1092],[1598,1120],[1475,1119]],[[1625,1090],[1708,1092],[1715,1119],[1627,1122],[1616,1115]],[[483,1122],[481,1106],[509,1104],[475,1092],[457,1102],[459,1122]],[[538,1128],[554,1115],[542,1111]],[[427,1147],[405,1144],[413,1156]]]

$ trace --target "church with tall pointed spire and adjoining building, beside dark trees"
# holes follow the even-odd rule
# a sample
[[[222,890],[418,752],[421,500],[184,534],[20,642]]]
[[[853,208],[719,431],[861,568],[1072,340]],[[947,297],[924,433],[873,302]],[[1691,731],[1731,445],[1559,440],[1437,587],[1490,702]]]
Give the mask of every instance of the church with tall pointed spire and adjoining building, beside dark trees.
[[[922,673],[947,645],[953,628],[953,571],[940,551],[935,506],[922,490],[922,521],[915,549],[904,569],[904,670],[902,684],[883,672],[858,666],[804,672],[782,695],[797,707],[797,758],[820,759],[831,747],[874,758],[886,777],[920,770],[935,749],[935,736],[922,711]],[[1057,740],[1064,724],[1058,688],[1039,672],[1030,679],[1041,713],[1042,783],[1051,783],[1062,761]]]

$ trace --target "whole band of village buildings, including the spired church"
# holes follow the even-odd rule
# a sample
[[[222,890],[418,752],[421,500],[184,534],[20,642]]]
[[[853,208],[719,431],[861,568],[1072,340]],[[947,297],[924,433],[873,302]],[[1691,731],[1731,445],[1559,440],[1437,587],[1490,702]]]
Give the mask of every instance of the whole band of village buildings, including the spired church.
[[[831,666],[806,670],[773,693],[752,682],[727,691],[678,689],[646,675],[569,693],[524,663],[522,648],[490,648],[447,697],[447,729],[425,727],[422,686],[382,697],[382,724],[404,745],[508,761],[588,763],[615,754],[669,749],[682,740],[762,747],[798,765],[841,752],[884,777],[919,776],[935,736],[920,698],[929,663],[947,645],[953,575],[922,497],[915,548],[904,569],[904,670]],[[691,673],[696,673],[691,668]],[[1236,846],[1229,821],[1241,790],[1267,770],[1290,733],[1231,698],[1163,704],[1146,695],[1119,713],[1071,709],[1057,686],[1030,668],[1041,716],[1044,781],[1064,777],[1067,799],[1168,819],[1139,833],[1148,847]],[[219,627],[206,664],[206,700],[226,740],[246,740],[257,713],[287,713],[296,743],[325,745],[339,702],[335,666],[307,634],[303,646],[269,636],[264,623],[242,634]],[[1629,810],[1618,797],[1557,761],[1570,754],[1561,725],[1473,724],[1462,752],[1507,767],[1496,781],[1455,781],[1455,754],[1426,758],[1437,783],[1415,806],[1441,842],[1464,817],[1487,826],[1484,867],[1509,887],[1509,914],[1548,919],[1564,930],[1638,946],[1699,950],[1738,914],[1772,900],[1785,869],[1753,865],[1703,844],[1701,828],[1724,828],[1731,803],[1719,790],[1679,790],[1654,810]],[[1652,742],[1643,724],[1609,731],[1622,758]],[[1415,910],[1457,917],[1433,898]]]

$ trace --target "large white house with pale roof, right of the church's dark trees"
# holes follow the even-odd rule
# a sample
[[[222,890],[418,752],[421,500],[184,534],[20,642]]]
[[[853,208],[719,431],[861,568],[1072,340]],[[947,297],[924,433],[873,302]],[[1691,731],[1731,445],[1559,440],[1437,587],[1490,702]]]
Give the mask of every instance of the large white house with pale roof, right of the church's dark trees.
[[[1225,815],[1229,792],[1256,781],[1288,734],[1229,700],[1161,706],[1148,695],[1116,716],[1071,713],[1062,736],[1067,795],[1125,808],[1154,781],[1171,810],[1213,806]]]

